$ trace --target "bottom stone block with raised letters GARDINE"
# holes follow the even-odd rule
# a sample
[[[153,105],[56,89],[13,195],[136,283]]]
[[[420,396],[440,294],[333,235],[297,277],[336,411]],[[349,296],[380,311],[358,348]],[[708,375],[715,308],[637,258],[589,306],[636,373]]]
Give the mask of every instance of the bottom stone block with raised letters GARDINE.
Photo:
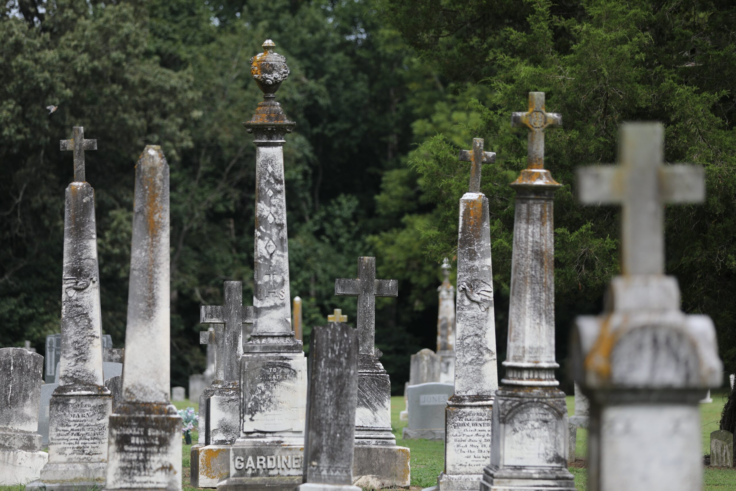
[[[238,438],[230,447],[230,477],[218,491],[283,490],[302,484],[304,437]]]

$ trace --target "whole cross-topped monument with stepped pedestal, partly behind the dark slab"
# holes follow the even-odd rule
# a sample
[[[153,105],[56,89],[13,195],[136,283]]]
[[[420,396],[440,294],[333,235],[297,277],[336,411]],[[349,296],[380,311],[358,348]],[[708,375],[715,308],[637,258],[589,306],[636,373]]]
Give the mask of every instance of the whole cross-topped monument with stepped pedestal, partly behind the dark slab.
[[[391,432],[391,382],[375,347],[375,297],[397,297],[397,280],[375,279],[375,258],[358,258],[358,278],[335,280],[339,297],[358,297],[358,406],[355,409],[356,486],[409,485],[409,449]]]

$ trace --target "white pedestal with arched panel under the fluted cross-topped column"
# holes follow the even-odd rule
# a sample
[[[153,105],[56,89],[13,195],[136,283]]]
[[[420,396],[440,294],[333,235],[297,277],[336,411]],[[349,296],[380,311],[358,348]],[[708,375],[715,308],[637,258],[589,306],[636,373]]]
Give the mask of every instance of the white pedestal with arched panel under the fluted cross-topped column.
[[[493,450],[480,490],[574,491],[565,393],[556,386],[504,386],[493,406]]]

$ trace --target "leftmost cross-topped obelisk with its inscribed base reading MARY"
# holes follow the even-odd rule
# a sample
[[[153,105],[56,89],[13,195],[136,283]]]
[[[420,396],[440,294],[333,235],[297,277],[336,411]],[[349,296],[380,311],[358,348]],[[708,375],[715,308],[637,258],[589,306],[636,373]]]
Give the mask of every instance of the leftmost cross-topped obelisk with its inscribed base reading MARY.
[[[102,314],[99,303],[94,189],[85,182],[84,128],[74,127],[62,150],[74,150],[74,182],[66,188],[61,291],[59,386],[49,406],[49,463],[29,489],[74,490],[102,486],[107,463],[107,424],[113,396],[102,378]]]

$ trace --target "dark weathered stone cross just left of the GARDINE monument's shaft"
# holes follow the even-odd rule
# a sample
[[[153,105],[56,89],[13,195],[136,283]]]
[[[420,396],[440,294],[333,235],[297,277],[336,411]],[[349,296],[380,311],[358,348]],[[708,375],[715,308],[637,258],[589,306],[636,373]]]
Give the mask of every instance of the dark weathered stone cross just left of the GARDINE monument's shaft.
[[[199,322],[224,325],[222,366],[224,380],[240,380],[240,355],[242,351],[243,324],[253,323],[253,308],[243,305],[243,283],[224,282],[224,305],[202,305],[199,307]],[[215,364],[217,363],[215,355]]]

